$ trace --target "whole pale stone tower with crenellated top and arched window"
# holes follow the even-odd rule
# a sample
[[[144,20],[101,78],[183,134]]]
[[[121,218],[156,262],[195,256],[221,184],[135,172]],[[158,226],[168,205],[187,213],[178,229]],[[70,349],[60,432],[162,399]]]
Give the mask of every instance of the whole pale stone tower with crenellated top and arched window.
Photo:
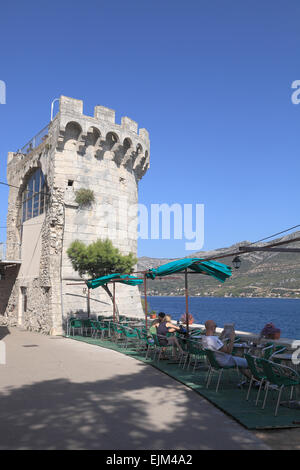
[[[128,117],[61,96],[53,121],[25,147],[8,154],[7,299],[3,323],[61,334],[66,319],[87,311],[87,290],[66,255],[70,243],[109,238],[123,254],[137,253],[138,181],[149,167],[149,135]],[[94,193],[80,206],[79,189]],[[13,270],[12,270],[13,269]],[[2,298],[4,298],[2,289]],[[122,314],[142,315],[137,287],[118,284]],[[103,289],[91,291],[91,314],[110,314]]]

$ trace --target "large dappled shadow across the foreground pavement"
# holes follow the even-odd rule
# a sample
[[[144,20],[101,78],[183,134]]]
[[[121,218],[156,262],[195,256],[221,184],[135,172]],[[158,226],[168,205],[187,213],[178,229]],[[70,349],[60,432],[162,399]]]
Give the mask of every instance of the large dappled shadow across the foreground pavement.
[[[99,372],[95,370],[95,376]],[[151,381],[149,378],[151,373]],[[141,364],[137,373],[77,383],[53,379],[0,394],[0,449],[251,449],[256,438],[197,406],[193,392]],[[150,393],[149,393],[150,391]],[[145,408],[143,397],[151,396]],[[134,397],[134,398],[133,398]],[[198,398],[198,397],[197,397]],[[170,413],[164,410],[171,407]],[[228,419],[228,418],[226,418]]]

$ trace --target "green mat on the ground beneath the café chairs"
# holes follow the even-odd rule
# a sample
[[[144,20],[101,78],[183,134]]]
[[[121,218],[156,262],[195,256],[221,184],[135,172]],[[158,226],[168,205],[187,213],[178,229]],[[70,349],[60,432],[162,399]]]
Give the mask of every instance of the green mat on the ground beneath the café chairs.
[[[235,370],[225,371],[223,373],[218,393],[215,392],[217,374],[214,375],[210,387],[205,387],[205,378],[207,372],[197,369],[192,373],[192,367],[189,371],[178,367],[178,364],[172,361],[153,361],[145,359],[145,354],[130,349],[125,349],[119,344],[109,340],[94,339],[85,336],[69,336],[68,338],[77,341],[83,341],[89,344],[101,346],[103,348],[112,349],[122,354],[128,355],[139,361],[152,365],[161,370],[170,377],[178,380],[182,384],[194,390],[199,395],[205,397],[220,410],[230,415],[247,429],[279,429],[279,428],[299,428],[300,427],[300,410],[288,407],[279,407],[278,416],[274,416],[275,403],[277,398],[276,391],[269,392],[266,407],[261,409],[262,398],[261,393],[259,406],[255,406],[257,390],[252,389],[249,401],[246,401],[246,389],[237,388],[240,378]],[[273,398],[273,399],[272,399]],[[285,400],[282,397],[282,400]]]

